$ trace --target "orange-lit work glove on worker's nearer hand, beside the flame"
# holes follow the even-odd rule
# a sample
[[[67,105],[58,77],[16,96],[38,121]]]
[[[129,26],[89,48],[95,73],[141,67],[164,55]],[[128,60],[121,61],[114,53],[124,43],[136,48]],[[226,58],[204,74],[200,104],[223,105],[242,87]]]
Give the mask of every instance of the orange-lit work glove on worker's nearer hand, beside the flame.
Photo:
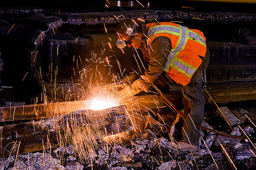
[[[138,94],[139,92],[143,91],[143,88],[140,84],[140,79],[133,82],[131,85],[126,85],[122,90],[118,92],[120,96],[123,96],[124,98],[129,98],[131,96],[134,96],[135,94]]]

